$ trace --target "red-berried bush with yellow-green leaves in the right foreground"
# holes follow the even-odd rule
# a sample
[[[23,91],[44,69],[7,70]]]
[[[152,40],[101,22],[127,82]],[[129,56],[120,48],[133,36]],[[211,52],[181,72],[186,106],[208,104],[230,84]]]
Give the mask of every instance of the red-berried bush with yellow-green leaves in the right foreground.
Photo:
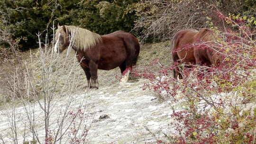
[[[157,140],[158,144],[256,144],[256,21],[216,14],[231,28],[219,31],[209,19],[209,27],[218,36],[195,48],[214,49],[222,57],[219,64],[160,64],[159,72],[151,72],[150,67],[134,72],[149,80],[144,89],[173,103],[183,101],[171,114],[170,125],[175,130],[165,134],[168,140]],[[172,75],[178,67],[183,71],[182,80]]]

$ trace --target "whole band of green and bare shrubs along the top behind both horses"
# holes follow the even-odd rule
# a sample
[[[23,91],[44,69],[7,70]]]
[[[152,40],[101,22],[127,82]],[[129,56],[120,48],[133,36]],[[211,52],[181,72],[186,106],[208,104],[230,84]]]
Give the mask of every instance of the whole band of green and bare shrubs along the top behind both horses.
[[[255,0],[0,0],[0,31],[8,29],[23,51],[38,47],[38,32],[42,36],[47,33],[51,41],[53,22],[55,26],[74,25],[101,35],[124,30],[140,39],[146,36],[146,42],[166,41],[176,29],[186,28],[183,24],[192,15],[201,19],[192,27],[204,27],[206,16],[216,16],[213,5],[226,15],[256,17]],[[217,22],[218,18],[213,20]],[[155,27],[157,21],[163,26]],[[1,40],[2,45],[8,47]]]

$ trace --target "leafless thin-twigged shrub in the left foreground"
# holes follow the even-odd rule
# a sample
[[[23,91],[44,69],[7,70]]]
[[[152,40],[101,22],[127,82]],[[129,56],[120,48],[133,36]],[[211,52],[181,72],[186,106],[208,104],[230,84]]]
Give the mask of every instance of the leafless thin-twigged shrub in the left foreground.
[[[0,140],[3,144],[85,144],[91,123],[86,97],[75,96],[83,88],[83,77],[75,71],[77,60],[55,54],[47,41],[43,48],[37,36],[38,52],[21,63],[22,69],[9,72],[4,83],[9,89],[3,90],[0,112],[9,130],[0,134]]]

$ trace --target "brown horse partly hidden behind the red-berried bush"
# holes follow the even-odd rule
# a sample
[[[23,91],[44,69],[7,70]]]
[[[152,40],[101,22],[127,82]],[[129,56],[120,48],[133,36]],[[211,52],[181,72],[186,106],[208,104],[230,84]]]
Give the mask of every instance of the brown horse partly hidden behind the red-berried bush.
[[[213,40],[216,39],[216,36],[212,30],[207,28],[202,28],[199,31],[196,29],[178,31],[174,35],[171,47],[174,63],[195,63],[197,65],[205,64],[206,66],[217,65],[222,59],[216,47],[200,46],[203,43],[213,46]],[[175,79],[178,76],[182,78],[181,71],[178,67],[174,68],[173,74]]]

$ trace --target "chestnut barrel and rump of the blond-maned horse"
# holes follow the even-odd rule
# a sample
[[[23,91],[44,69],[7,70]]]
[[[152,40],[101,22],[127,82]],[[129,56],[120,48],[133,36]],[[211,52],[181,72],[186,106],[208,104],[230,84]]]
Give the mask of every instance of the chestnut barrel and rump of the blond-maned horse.
[[[101,36],[102,41],[96,49],[90,49],[91,59],[98,63],[99,69],[113,69],[121,63],[135,65],[139,54],[139,43],[137,38],[123,31],[114,32]],[[91,52],[89,52],[91,51]],[[97,54],[92,54],[95,52]],[[92,55],[98,55],[93,57]],[[130,64],[132,63],[132,64]]]

